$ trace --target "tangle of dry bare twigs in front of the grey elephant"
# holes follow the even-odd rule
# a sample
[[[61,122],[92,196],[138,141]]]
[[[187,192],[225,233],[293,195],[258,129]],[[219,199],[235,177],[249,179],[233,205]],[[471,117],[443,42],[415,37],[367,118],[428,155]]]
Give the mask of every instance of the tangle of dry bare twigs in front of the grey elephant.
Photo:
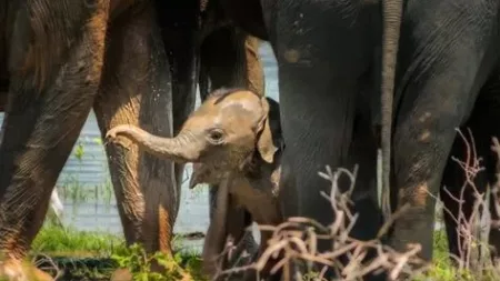
[[[410,244],[408,251],[398,253],[382,245],[379,239],[387,231],[389,224],[400,213],[404,212],[407,207],[398,210],[394,213],[396,218],[386,222],[377,239],[360,241],[350,237],[351,229],[358,219],[358,215],[352,214],[350,209],[352,205],[350,195],[354,189],[357,171],[358,168],[354,167],[352,172],[347,169],[338,169],[332,172],[327,167],[326,172],[319,173],[320,177],[331,182],[330,194],[322,194],[330,201],[333,211],[334,220],[329,227],[321,225],[308,218],[289,218],[276,227],[259,225],[261,231],[272,232],[268,248],[261,257],[250,265],[220,271],[217,278],[244,270],[260,272],[271,258],[280,258],[271,269],[271,273],[283,270],[284,280],[290,280],[288,269],[298,261],[306,262],[309,270],[311,270],[313,263],[322,267],[314,280],[323,280],[323,274],[328,268],[338,272],[338,280],[342,281],[361,280],[363,275],[380,273],[381,271],[388,272],[391,280],[397,280],[401,275],[409,277],[418,273],[417,268],[426,269],[426,263],[417,258],[421,250],[420,244]],[[338,185],[338,179],[342,174],[351,181],[348,190],[343,192]],[[331,241],[333,244],[332,251],[318,252],[317,245],[320,240]],[[368,260],[366,258],[370,251],[377,252],[378,255]],[[341,257],[346,255],[348,257],[347,263],[340,262]]]

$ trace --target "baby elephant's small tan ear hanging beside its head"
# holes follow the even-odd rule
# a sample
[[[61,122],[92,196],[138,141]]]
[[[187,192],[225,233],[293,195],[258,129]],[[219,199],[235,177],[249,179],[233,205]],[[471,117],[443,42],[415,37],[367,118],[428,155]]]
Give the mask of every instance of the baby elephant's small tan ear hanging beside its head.
[[[259,123],[259,130],[257,132],[257,149],[259,150],[260,157],[268,163],[274,161],[274,153],[278,150],[274,147],[271,127],[269,124],[269,103],[264,98],[261,99],[262,102],[262,118]]]

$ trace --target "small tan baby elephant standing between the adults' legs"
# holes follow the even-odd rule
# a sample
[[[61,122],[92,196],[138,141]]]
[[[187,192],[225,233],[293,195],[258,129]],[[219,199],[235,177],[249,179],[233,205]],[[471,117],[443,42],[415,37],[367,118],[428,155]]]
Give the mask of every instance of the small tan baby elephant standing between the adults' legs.
[[[222,193],[218,204],[227,204],[224,194],[230,194],[253,221],[276,225],[282,222],[278,204],[283,147],[279,116],[279,104],[270,98],[247,90],[220,89],[191,113],[176,138],[152,136],[133,126],[114,127],[107,138],[119,141],[124,137],[159,158],[193,162],[190,188],[198,183],[218,184]],[[221,251],[208,253],[210,251],[206,250],[210,248],[207,243],[212,243],[212,237],[217,237],[211,232],[223,233],[227,208],[218,205],[217,209],[222,211],[216,213],[212,221],[216,225],[210,225],[207,233],[204,262],[213,262],[210,258]],[[259,255],[267,248],[270,234],[261,233]],[[260,277],[267,275],[269,269],[260,272]]]

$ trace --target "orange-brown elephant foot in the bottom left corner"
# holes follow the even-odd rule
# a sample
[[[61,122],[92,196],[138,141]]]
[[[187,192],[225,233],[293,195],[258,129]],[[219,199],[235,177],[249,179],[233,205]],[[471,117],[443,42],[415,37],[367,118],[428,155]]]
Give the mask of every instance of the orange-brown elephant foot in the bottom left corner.
[[[53,281],[53,278],[30,264],[18,260],[0,262],[0,280],[6,281]]]

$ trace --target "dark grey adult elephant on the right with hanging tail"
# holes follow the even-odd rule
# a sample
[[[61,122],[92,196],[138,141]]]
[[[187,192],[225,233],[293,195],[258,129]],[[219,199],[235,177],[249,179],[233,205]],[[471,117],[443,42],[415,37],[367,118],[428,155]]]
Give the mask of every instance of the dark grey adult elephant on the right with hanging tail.
[[[388,114],[391,108],[386,108],[391,106],[390,99],[384,99],[382,101],[388,103],[382,104],[386,117],[382,124],[393,130],[394,139],[387,143],[390,138],[384,136],[384,145],[390,144],[393,150],[390,159],[393,168],[391,205],[394,210],[403,205],[409,208],[396,220],[388,242],[400,251],[407,250],[409,243],[420,243],[420,255],[430,260],[433,198],[442,183],[456,187],[451,194],[459,194],[461,183],[458,181],[463,180],[458,177],[463,171],[449,158],[450,151],[457,154],[463,150],[456,128],[472,128],[481,155],[490,154],[490,138],[500,134],[494,126],[484,127],[487,120],[496,120],[499,112],[500,2],[246,1],[249,6],[260,6],[256,9],[239,9],[240,3],[237,6],[229,0],[222,2],[240,26],[271,42],[278,60],[281,120],[287,143],[281,190],[287,199],[283,201],[296,198],[297,202],[297,205],[284,205],[286,214],[307,215],[330,223],[330,207],[319,194],[319,191],[328,191],[328,185],[317,171],[324,164],[336,168],[359,163],[353,198],[360,220],[352,234],[362,239],[373,237],[380,222],[373,199],[377,141],[370,133],[371,124],[378,122],[373,120],[377,112],[367,113],[369,108],[364,107],[378,100],[373,84],[378,84],[380,69],[394,64],[394,57],[383,56],[394,54],[391,48],[396,47],[393,40],[398,38],[393,32],[399,24],[397,11],[404,7],[396,76],[394,123],[391,124]],[[389,11],[383,18],[382,6]],[[393,8],[396,13],[388,8]],[[259,9],[261,17],[252,17],[251,12],[244,17],[244,11]],[[383,32],[382,22],[388,28]],[[382,63],[378,62],[380,48],[384,49],[382,57],[388,59]],[[382,84],[390,86],[392,78],[382,78]],[[384,90],[390,92],[390,87]],[[384,94],[383,98],[388,97]],[[487,160],[489,180],[493,181],[494,155],[488,155]],[[466,197],[470,198],[470,193]],[[451,208],[452,212],[458,211],[456,205]],[[466,217],[469,215],[470,207],[464,211]],[[493,217],[498,214],[493,212]],[[453,222],[450,218],[447,220],[452,233]],[[496,230],[491,235],[497,248],[498,233]],[[457,241],[450,247],[456,252]]]

